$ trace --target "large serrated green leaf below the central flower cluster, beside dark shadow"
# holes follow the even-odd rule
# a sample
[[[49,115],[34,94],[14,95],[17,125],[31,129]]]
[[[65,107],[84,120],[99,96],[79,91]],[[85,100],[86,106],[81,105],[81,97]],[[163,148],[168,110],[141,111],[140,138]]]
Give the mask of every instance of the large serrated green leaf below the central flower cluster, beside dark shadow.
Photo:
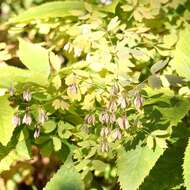
[[[121,188],[123,190],[136,190],[149,174],[158,158],[163,154],[163,149],[155,150],[147,146],[138,145],[135,149],[118,153],[117,168]]]

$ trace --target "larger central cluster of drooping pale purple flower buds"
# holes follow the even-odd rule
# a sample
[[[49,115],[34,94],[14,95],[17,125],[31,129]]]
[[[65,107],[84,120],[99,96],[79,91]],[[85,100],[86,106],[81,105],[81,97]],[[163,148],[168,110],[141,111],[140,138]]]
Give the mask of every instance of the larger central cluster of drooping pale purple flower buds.
[[[143,107],[143,98],[139,93],[134,97],[129,97],[118,84],[111,87],[109,94],[108,101],[103,105],[103,111],[87,114],[83,125],[84,131],[88,133],[88,126],[101,126],[100,149],[102,152],[109,151],[110,139],[112,142],[122,140],[124,134],[129,131],[132,124],[128,119],[128,109],[134,107],[138,115]]]

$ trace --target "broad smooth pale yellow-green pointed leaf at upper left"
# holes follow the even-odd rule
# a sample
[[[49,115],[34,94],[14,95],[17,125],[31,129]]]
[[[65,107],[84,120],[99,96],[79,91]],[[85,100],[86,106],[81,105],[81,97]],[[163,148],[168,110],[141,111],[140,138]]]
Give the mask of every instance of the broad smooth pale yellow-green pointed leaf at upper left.
[[[23,39],[19,39],[19,58],[22,63],[32,72],[44,74],[46,77],[50,74],[49,53],[36,44],[32,44]]]

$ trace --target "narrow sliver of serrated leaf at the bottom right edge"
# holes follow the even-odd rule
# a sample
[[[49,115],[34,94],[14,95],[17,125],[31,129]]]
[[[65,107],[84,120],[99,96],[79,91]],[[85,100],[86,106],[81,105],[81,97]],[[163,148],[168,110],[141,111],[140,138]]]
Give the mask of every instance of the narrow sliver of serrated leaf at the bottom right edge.
[[[185,149],[183,176],[184,176],[185,187],[187,188],[187,190],[190,190],[190,138],[188,145]]]

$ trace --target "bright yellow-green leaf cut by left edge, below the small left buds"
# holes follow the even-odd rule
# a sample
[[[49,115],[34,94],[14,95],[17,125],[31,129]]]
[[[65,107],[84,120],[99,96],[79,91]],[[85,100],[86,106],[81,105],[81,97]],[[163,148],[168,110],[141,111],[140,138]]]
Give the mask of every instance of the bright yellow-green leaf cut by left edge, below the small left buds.
[[[8,97],[0,97],[0,143],[4,146],[10,141],[15,129],[12,125],[14,109],[9,104]]]

